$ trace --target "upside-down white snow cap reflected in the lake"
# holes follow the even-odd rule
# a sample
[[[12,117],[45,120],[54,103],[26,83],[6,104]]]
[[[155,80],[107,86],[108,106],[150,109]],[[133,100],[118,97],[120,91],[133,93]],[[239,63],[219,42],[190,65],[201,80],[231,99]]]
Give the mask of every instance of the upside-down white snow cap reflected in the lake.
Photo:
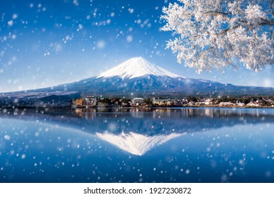
[[[134,132],[129,132],[125,134],[112,134],[112,133],[96,133],[100,139],[109,142],[117,146],[118,148],[129,152],[133,155],[144,155],[154,146],[159,146],[166,143],[167,141],[174,139],[183,134],[169,134],[169,135],[157,135],[157,136],[146,136],[144,134],[136,134]]]

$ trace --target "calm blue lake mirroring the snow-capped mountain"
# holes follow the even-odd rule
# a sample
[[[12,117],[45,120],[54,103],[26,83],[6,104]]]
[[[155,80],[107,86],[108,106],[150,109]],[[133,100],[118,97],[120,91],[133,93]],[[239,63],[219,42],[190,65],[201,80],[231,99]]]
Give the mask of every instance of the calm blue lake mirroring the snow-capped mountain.
[[[274,182],[274,109],[1,109],[0,182]]]

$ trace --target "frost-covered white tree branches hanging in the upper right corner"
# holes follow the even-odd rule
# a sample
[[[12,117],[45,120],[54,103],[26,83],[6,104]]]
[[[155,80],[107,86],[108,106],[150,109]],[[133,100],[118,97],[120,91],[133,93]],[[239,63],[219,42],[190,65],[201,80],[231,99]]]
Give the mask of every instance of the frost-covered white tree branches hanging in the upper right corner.
[[[274,0],[178,0],[163,8],[167,49],[197,72],[237,61],[250,70],[274,63]]]

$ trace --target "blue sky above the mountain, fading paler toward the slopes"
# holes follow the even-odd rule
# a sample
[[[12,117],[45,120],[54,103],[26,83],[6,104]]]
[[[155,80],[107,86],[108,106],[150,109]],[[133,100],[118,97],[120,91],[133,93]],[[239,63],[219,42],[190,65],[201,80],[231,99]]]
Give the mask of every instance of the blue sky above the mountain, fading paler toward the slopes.
[[[203,72],[176,62],[162,32],[162,7],[174,0],[2,1],[0,6],[0,92],[51,87],[98,75],[129,58],[185,77],[274,87],[274,68]]]

